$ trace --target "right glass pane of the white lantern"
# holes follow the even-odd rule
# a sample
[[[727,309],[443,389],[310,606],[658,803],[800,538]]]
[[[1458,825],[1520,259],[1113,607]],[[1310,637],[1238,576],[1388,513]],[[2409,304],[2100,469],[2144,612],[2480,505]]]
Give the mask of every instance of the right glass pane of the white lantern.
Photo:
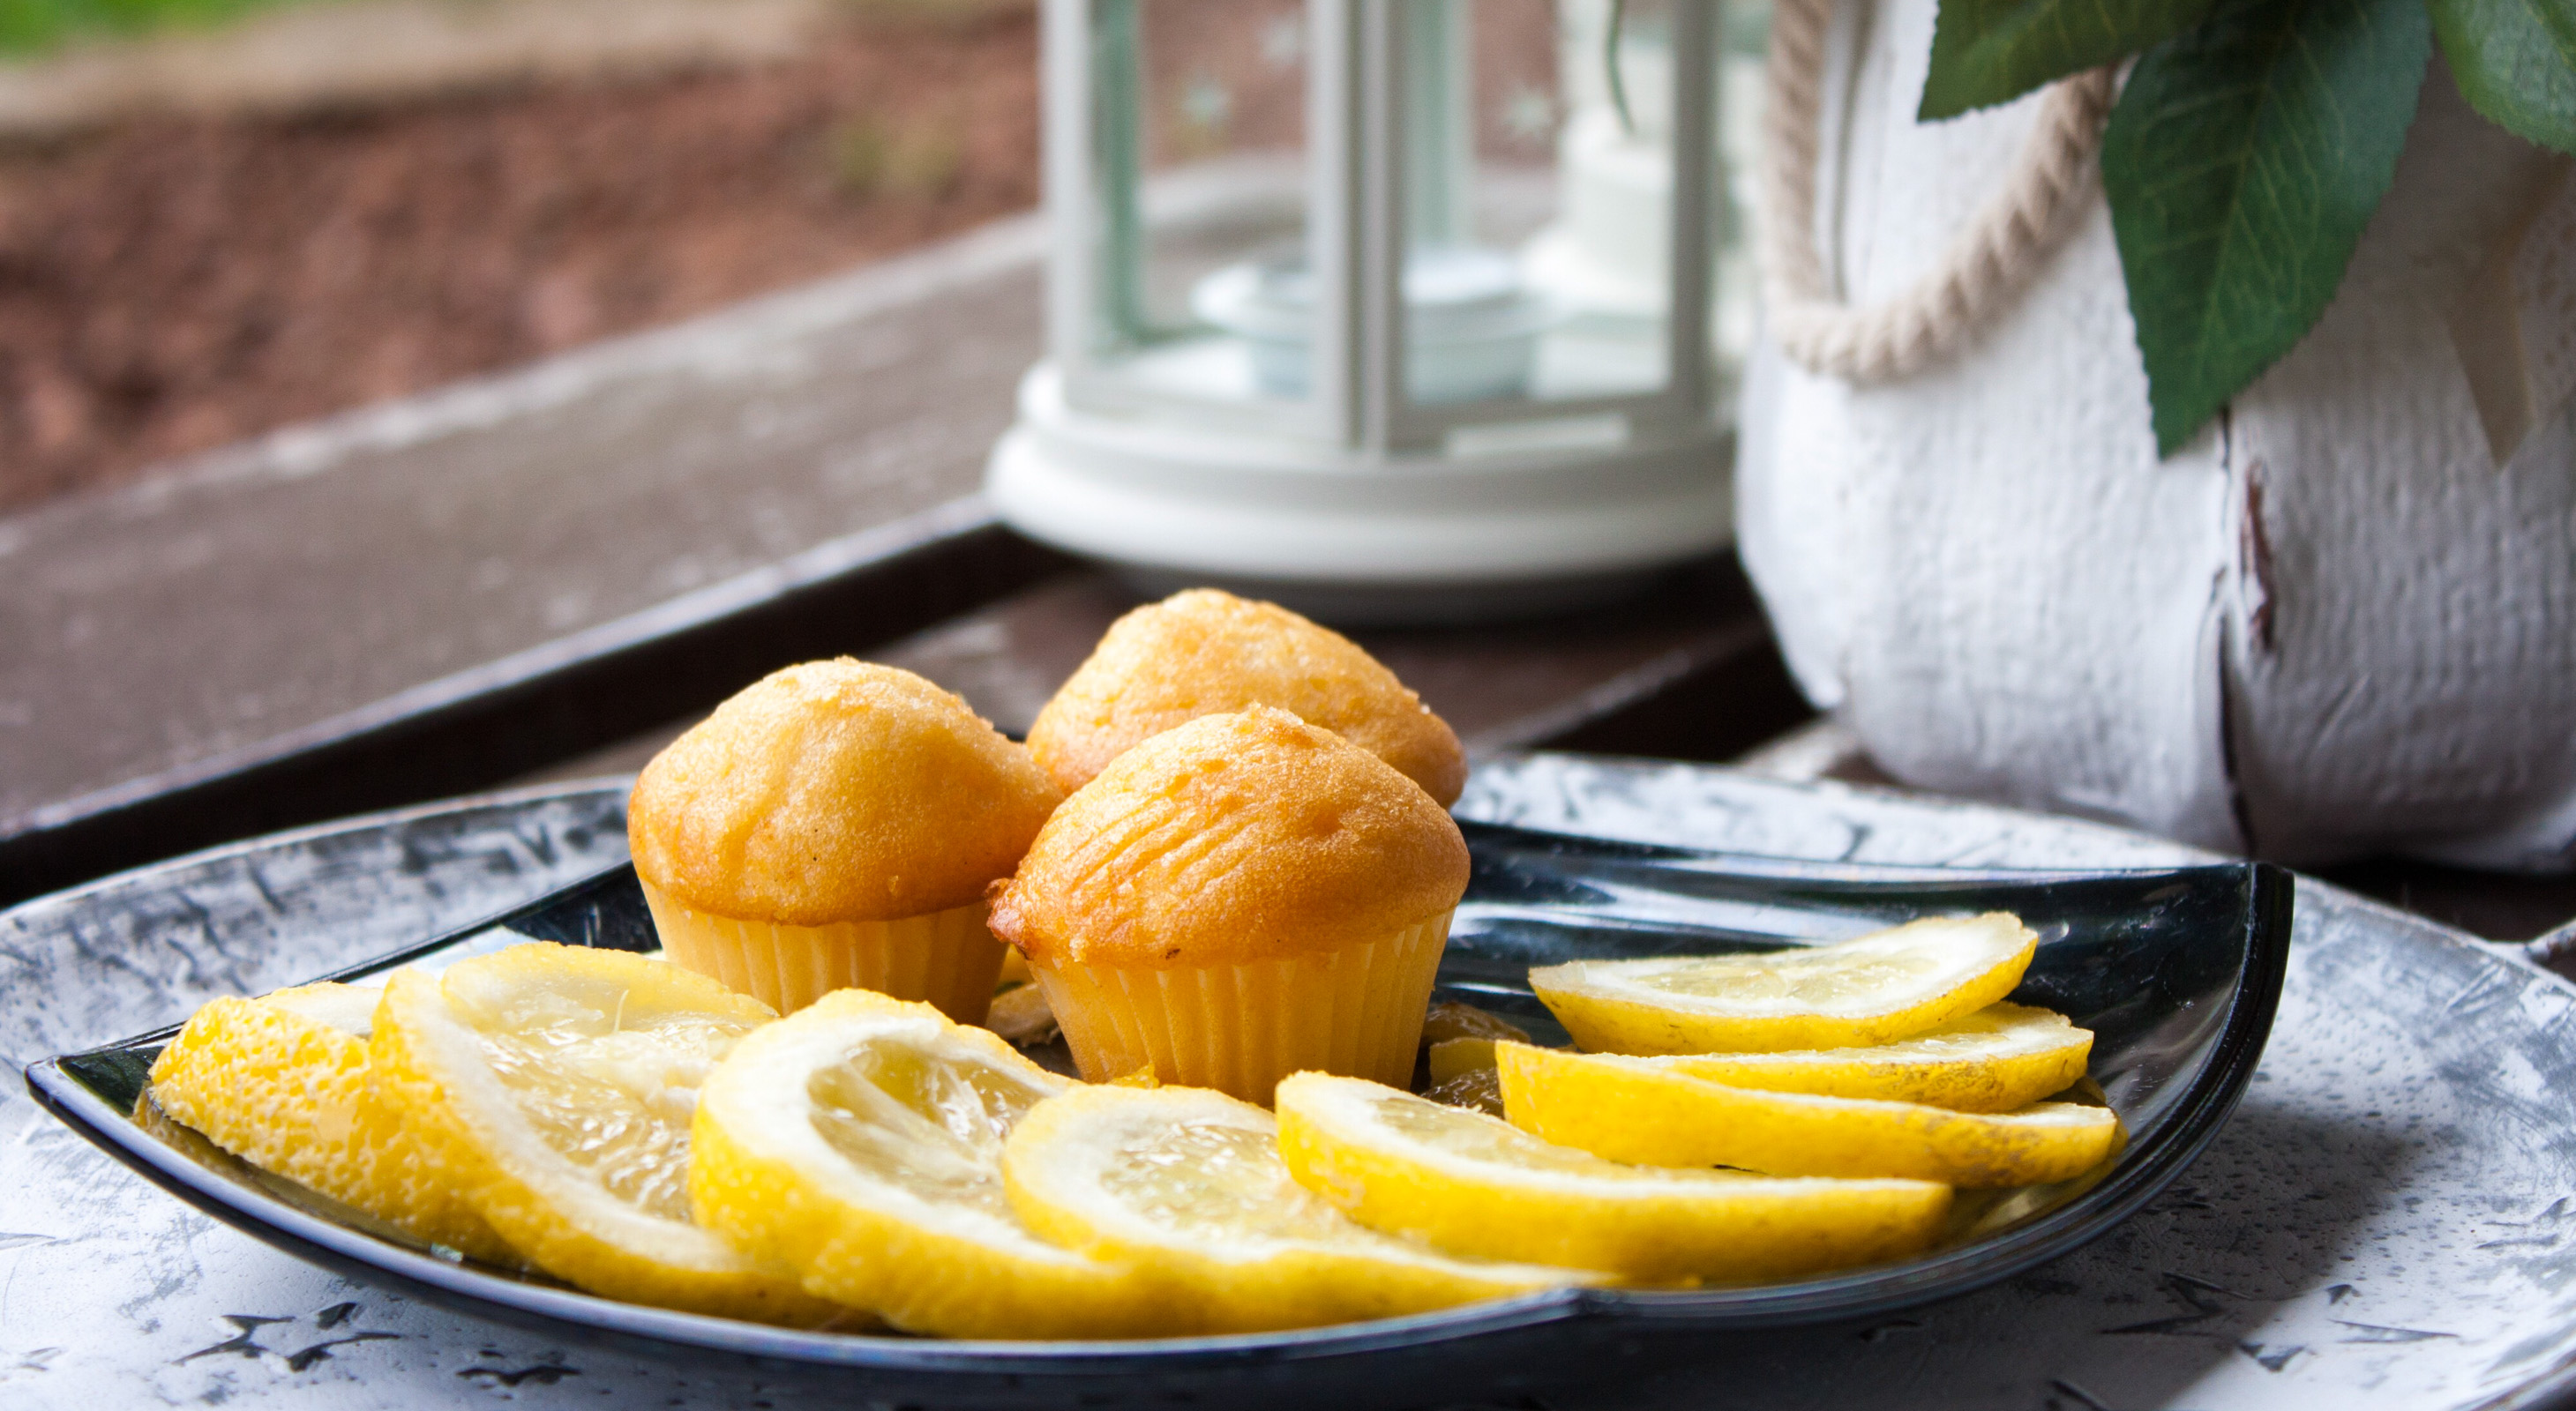
[[[1597,402],[1672,378],[1672,3],[1399,5],[1404,394]]]

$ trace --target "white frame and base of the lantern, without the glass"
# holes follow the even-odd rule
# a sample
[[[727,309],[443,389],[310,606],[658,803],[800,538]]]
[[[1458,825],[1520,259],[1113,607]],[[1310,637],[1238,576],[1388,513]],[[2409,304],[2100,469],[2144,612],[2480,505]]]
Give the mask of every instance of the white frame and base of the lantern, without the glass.
[[[1406,389],[1406,206],[1422,191],[1406,82],[1440,62],[1425,8],[1455,26],[1471,3],[1306,0],[1298,191],[1319,296],[1303,399],[1151,386],[1121,368],[1131,345],[1100,337],[1108,301],[1133,299],[1115,286],[1133,270],[1113,260],[1139,257],[1146,216],[1139,113],[1103,100],[1133,93],[1136,0],[1043,3],[1048,358],[992,456],[1007,523],[1146,587],[1244,584],[1345,621],[1574,605],[1728,541],[1710,345],[1716,0],[1672,5],[1662,384],[1473,402]],[[1123,170],[1105,170],[1121,152]]]

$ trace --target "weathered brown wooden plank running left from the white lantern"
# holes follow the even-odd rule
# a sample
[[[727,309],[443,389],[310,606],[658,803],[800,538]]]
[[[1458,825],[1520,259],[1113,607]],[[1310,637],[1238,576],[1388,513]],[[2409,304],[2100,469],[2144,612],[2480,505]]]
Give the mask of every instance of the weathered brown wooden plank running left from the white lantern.
[[[956,518],[1038,355],[1041,247],[1002,221],[0,520],[0,834]]]

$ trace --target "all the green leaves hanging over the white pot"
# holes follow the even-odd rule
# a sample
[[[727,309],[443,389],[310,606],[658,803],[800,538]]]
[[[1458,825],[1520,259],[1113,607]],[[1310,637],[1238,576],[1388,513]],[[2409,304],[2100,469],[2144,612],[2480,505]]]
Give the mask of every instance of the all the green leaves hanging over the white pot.
[[[1919,116],[2138,54],[2102,188],[2172,456],[2334,301],[2434,39],[2488,121],[2576,154],[2576,0],[1940,0]]]

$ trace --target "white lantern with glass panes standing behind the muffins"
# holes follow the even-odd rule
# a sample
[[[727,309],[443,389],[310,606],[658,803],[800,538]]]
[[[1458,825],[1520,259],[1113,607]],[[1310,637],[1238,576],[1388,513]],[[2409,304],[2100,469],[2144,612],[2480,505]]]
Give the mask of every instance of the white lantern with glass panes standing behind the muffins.
[[[1723,546],[1716,21],[1046,0],[1048,358],[994,507],[1146,590],[1340,621],[1566,608]]]

